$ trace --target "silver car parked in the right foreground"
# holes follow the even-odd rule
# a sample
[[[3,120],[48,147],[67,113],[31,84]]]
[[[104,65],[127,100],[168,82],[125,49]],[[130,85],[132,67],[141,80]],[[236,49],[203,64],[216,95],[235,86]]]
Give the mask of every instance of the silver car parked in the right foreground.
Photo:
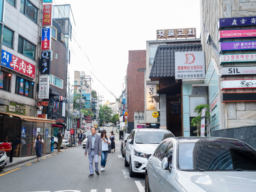
[[[167,138],[145,178],[145,192],[256,191],[256,150],[237,139]]]

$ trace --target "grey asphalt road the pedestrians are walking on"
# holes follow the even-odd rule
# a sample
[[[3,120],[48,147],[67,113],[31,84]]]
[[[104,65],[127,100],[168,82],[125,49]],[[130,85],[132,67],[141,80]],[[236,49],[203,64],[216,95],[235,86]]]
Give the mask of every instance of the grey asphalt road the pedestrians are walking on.
[[[110,128],[106,128],[110,133]],[[114,129],[115,132],[115,129]],[[44,158],[44,157],[42,157]],[[101,158],[99,157],[99,162]],[[99,163],[99,170],[101,166]],[[105,172],[89,176],[89,161],[82,146],[64,149],[40,162],[25,162],[0,173],[0,192],[142,192],[144,175],[129,177],[116,141],[116,153],[108,154]],[[12,171],[13,170],[13,171]],[[9,172],[12,171],[12,172]],[[75,191],[77,190],[77,191]]]

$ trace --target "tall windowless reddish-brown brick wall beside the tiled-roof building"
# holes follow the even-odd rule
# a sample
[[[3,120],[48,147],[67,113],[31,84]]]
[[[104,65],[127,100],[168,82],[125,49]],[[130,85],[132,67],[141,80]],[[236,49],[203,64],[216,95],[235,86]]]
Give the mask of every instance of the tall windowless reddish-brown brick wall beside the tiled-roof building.
[[[139,68],[146,68],[146,50],[129,51],[126,98],[128,122],[134,122],[135,111],[144,111],[144,72],[138,72]],[[129,127],[129,131],[131,128]]]

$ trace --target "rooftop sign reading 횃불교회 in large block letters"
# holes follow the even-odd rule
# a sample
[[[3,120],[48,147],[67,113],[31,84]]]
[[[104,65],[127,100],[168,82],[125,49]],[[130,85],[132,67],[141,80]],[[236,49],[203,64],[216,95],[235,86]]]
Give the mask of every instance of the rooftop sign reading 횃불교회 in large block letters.
[[[157,30],[157,39],[196,37],[196,28]]]

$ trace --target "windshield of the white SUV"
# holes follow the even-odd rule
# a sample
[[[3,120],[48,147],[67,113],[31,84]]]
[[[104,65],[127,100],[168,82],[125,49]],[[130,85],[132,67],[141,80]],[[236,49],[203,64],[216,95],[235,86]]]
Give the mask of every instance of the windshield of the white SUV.
[[[159,144],[166,131],[138,131],[135,136],[135,143],[138,144]]]

